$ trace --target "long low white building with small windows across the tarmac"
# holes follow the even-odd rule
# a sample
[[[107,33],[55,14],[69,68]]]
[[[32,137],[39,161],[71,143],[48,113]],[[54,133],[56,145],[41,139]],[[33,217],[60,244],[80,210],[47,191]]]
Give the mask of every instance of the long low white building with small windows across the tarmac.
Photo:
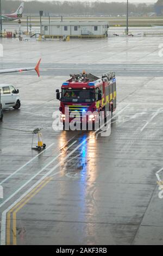
[[[51,21],[42,22],[41,34],[45,35],[45,38],[106,37],[108,28],[108,21]]]

